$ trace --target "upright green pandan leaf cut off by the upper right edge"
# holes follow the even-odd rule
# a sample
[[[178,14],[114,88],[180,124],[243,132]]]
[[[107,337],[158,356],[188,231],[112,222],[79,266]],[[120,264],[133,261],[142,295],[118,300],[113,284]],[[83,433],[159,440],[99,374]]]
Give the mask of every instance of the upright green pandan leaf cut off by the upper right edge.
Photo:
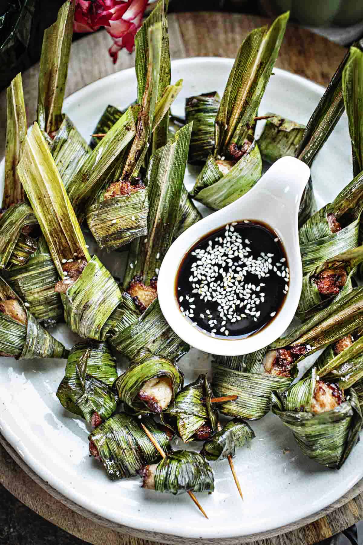
[[[343,70],[342,87],[352,141],[353,174],[356,176],[363,171],[363,51],[358,47],[350,47]]]

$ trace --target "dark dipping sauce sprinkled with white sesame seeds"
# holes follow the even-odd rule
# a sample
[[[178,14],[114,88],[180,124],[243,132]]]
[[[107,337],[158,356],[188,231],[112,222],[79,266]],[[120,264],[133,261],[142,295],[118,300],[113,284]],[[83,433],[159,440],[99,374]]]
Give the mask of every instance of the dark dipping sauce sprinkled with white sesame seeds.
[[[243,338],[272,322],[290,281],[284,247],[254,220],[208,233],[186,254],[176,276],[180,311],[217,338]]]

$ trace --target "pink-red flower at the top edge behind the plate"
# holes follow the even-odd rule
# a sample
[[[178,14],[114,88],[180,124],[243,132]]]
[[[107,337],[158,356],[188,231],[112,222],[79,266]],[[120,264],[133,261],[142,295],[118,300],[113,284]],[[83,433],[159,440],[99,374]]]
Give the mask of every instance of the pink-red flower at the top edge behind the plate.
[[[147,0],[76,0],[75,32],[94,32],[105,27],[113,39],[108,52],[115,64],[119,51],[132,52]]]

